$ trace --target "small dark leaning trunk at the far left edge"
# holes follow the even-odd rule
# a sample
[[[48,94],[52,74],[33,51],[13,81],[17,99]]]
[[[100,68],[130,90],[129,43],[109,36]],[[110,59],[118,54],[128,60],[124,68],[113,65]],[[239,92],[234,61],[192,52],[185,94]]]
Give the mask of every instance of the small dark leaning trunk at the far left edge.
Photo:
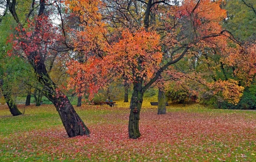
[[[12,100],[12,95],[9,93],[8,87],[7,89],[3,87],[3,80],[0,79],[0,89],[2,90],[3,97],[9,107],[9,110],[13,116],[22,115],[22,113],[17,108],[15,102]]]

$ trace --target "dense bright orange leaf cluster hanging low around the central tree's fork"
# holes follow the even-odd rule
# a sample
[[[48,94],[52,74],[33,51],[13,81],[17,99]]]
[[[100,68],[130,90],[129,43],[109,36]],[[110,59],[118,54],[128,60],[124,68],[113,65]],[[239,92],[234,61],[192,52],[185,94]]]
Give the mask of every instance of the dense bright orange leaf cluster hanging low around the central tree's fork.
[[[89,89],[93,95],[106,87],[107,81],[113,76],[125,76],[131,82],[136,81],[137,77],[148,81],[162,61],[159,38],[156,32],[140,30],[132,33],[124,30],[119,42],[105,47],[105,57],[93,56],[83,64],[78,61],[67,64],[68,73],[72,76],[69,87],[76,87],[76,92]]]

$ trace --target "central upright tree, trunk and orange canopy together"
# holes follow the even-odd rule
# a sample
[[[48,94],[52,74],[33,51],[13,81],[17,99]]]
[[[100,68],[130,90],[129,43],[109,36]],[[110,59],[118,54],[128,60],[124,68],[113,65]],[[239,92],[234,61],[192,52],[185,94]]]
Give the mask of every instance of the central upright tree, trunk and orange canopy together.
[[[143,95],[160,75],[190,53],[204,53],[206,47],[221,51],[228,39],[233,40],[220,25],[225,18],[220,1],[185,0],[180,6],[168,0],[87,4],[69,2],[87,31],[76,32],[76,49],[92,54],[85,64],[69,63],[69,86],[77,92],[89,87],[93,94],[114,78],[128,78],[133,84],[128,131],[134,139],[140,137]],[[90,10],[94,14],[88,14]]]

